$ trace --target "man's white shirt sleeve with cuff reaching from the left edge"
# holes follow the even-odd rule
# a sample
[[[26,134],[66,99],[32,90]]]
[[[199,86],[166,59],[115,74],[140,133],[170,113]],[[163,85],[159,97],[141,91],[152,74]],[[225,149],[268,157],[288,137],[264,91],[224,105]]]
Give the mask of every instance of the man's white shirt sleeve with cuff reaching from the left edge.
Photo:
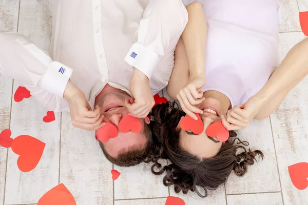
[[[27,87],[45,107],[55,111],[61,109],[61,98],[72,71],[53,61],[24,35],[0,32],[0,73]]]

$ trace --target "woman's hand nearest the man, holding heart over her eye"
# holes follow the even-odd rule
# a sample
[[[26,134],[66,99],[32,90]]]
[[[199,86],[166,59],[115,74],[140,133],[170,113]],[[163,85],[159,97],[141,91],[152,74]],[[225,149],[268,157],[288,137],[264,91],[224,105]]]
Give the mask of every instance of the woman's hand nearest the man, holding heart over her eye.
[[[205,75],[191,77],[185,87],[177,94],[177,99],[180,102],[182,110],[191,118],[197,120],[195,113],[202,114],[203,111],[196,108],[194,105],[202,103],[205,99],[201,88],[206,83]]]

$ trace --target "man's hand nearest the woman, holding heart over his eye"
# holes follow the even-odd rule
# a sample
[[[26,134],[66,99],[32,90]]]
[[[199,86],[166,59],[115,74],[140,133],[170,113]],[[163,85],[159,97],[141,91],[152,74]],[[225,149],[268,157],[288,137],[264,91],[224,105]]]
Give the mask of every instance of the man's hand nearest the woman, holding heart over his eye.
[[[133,101],[125,101],[128,111],[134,117],[144,118],[155,104],[149,86],[149,79],[144,73],[134,68],[129,85]]]

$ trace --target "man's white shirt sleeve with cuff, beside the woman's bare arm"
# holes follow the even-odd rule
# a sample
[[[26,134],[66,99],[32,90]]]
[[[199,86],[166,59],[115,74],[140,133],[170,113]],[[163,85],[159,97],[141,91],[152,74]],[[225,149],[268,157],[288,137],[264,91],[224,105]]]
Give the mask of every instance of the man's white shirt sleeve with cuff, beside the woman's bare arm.
[[[138,40],[125,61],[150,79],[170,40],[183,32],[187,22],[188,13],[181,0],[151,0],[140,20]]]

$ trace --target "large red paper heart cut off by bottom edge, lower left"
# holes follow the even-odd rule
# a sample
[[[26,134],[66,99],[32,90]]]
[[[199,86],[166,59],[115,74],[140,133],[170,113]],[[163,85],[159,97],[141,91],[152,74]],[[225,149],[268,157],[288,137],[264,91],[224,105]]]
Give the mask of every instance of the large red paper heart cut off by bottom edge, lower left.
[[[37,205],[76,205],[70,191],[61,183],[52,188],[38,200]]]

